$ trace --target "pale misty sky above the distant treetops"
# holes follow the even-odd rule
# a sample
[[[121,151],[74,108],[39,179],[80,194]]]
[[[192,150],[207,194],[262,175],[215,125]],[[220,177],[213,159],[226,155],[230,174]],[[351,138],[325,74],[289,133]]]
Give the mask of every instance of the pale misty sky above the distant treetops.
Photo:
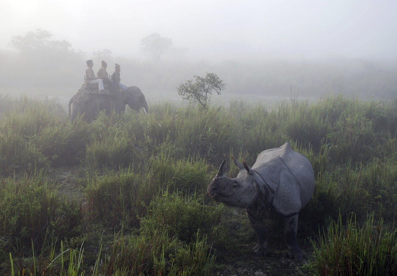
[[[198,58],[397,58],[397,1],[0,0],[0,49],[37,28],[75,50],[140,58],[159,33]]]

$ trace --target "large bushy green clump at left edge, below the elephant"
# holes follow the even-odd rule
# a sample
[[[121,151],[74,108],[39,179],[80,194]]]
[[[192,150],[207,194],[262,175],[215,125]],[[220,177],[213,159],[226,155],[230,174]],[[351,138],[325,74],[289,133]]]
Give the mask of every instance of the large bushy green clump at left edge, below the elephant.
[[[77,200],[60,199],[41,173],[0,179],[0,236],[11,244],[31,245],[46,235],[72,237],[80,231],[83,210]]]

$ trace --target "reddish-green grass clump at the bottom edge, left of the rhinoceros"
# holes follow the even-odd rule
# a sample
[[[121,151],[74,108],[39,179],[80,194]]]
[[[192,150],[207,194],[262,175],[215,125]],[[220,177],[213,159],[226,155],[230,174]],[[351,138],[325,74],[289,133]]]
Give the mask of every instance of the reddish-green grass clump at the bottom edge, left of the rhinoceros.
[[[101,275],[211,275],[214,256],[206,239],[191,246],[164,232],[116,235]]]

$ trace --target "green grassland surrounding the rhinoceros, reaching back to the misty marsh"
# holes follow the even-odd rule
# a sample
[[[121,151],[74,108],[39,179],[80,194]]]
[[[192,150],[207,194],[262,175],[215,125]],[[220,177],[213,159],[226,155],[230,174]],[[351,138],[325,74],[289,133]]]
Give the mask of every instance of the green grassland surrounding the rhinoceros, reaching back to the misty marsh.
[[[70,123],[75,90],[1,89],[0,275],[397,275],[397,99],[222,93],[202,110],[142,89],[148,116]],[[271,220],[255,257],[244,210],[206,195],[224,158],[285,142],[316,176],[303,260]]]

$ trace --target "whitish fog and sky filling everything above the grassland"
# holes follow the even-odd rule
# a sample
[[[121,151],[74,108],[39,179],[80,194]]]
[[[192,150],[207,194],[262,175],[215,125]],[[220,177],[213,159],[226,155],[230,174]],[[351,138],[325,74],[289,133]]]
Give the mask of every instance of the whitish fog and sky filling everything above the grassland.
[[[81,87],[85,61],[169,93],[216,73],[224,94],[395,97],[395,1],[2,0],[0,88]],[[161,56],[145,37],[172,42]],[[176,93],[176,92],[175,92]]]

